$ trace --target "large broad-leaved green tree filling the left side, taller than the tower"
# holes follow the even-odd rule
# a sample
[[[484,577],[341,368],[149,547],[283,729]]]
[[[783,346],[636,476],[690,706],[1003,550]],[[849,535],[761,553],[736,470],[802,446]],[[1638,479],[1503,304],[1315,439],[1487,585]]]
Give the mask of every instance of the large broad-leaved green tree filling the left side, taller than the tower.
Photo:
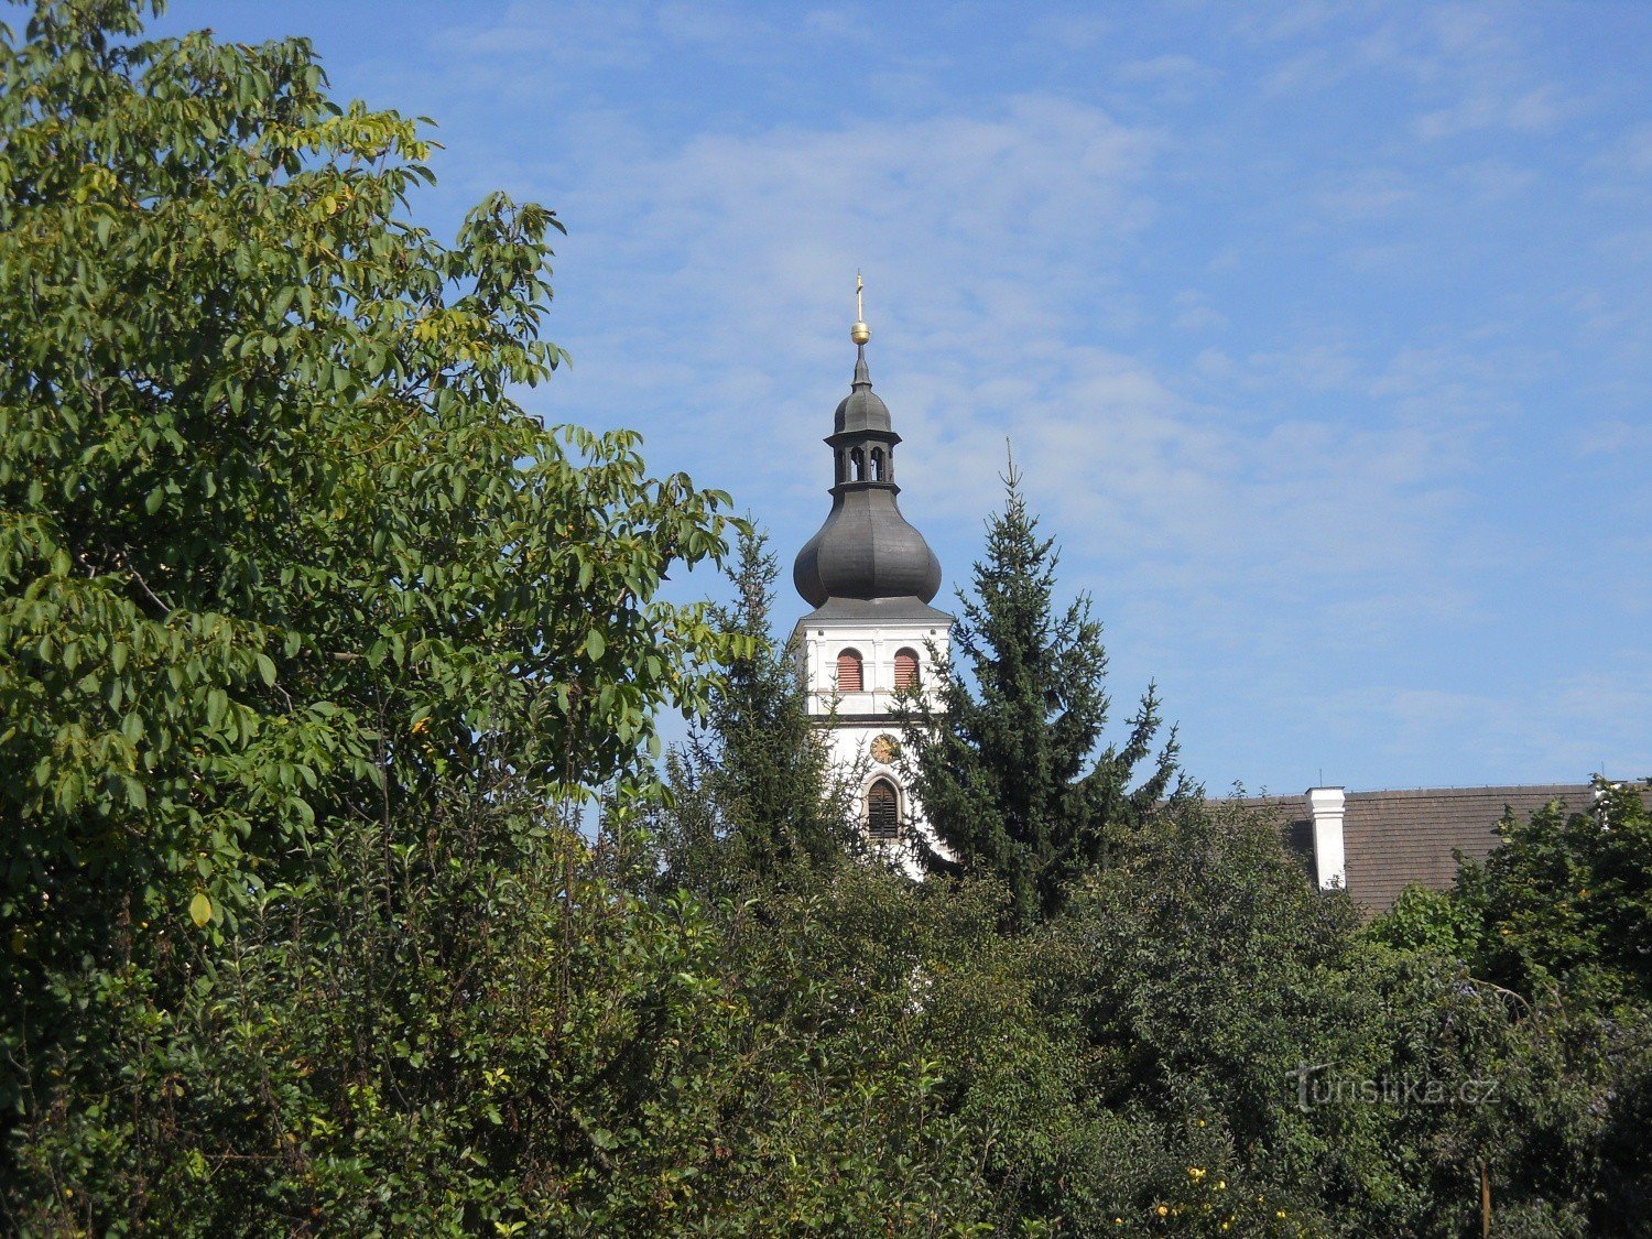
[[[563,358],[555,216],[494,195],[438,243],[411,121],[145,8],[0,36],[7,1112],[23,1064],[129,1067],[89,1031],[112,960],[180,1003],[165,961],[334,833],[568,801],[732,651],[656,600],[727,499],[510,395]]]

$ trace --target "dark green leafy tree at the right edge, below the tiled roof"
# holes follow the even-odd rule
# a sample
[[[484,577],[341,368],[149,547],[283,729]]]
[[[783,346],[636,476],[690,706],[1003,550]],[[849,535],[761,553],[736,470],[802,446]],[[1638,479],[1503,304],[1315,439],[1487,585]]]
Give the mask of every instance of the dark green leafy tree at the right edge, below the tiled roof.
[[[1629,1135],[1652,1115],[1645,798],[1601,785],[1589,813],[1507,813],[1502,836],[1449,892],[1408,889],[1370,928],[1421,957],[1460,958],[1462,985],[1517,1016],[1492,1061],[1497,1107],[1434,1140],[1485,1163],[1512,1234],[1632,1232],[1626,1221],[1652,1209],[1652,1173]]]

